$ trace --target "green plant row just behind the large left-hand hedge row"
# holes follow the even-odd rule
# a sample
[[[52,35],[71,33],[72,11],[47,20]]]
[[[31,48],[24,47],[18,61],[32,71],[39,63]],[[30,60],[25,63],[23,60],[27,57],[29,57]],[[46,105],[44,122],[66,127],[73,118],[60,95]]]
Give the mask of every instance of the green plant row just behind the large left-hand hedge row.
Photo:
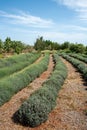
[[[15,73],[15,72],[18,72],[18,71],[24,69],[25,67],[32,64],[37,58],[39,58],[39,56],[40,56],[40,53],[39,54],[37,53],[35,55],[34,54],[29,54],[28,57],[26,58],[26,61],[24,60],[22,62],[12,64],[12,66],[7,66],[7,67],[4,67],[4,68],[1,68],[0,69],[0,78],[3,78],[5,76],[8,76],[8,75],[10,75],[12,73]],[[19,61],[20,61],[20,59],[19,59]]]

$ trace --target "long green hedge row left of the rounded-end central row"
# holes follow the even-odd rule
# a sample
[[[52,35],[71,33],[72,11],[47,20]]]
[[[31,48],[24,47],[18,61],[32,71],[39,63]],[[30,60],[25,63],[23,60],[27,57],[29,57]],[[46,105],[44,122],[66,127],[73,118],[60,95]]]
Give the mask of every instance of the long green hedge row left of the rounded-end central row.
[[[48,63],[49,55],[46,55],[39,63],[30,65],[27,69],[17,74],[15,73],[3,78],[0,81],[0,106],[9,101],[15,93],[26,87],[31,81],[45,71]]]

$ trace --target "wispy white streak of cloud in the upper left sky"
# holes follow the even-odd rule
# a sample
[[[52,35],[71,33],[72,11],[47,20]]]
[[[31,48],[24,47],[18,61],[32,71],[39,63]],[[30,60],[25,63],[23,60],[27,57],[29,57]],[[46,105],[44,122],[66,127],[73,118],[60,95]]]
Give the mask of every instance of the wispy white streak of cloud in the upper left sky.
[[[11,14],[0,11],[0,17],[7,18],[7,21],[12,24],[23,24],[31,27],[48,28],[53,25],[51,20],[42,19],[40,17],[26,14],[21,11],[18,12],[18,14]]]

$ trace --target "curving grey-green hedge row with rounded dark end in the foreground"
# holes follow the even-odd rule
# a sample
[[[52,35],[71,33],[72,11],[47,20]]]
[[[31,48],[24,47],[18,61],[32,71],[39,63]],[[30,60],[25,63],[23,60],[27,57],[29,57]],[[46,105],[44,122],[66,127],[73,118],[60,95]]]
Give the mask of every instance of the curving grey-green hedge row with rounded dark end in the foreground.
[[[52,75],[14,113],[15,122],[36,127],[48,119],[49,113],[56,105],[58,91],[67,76],[67,68],[58,55],[54,55],[54,60],[56,66]]]

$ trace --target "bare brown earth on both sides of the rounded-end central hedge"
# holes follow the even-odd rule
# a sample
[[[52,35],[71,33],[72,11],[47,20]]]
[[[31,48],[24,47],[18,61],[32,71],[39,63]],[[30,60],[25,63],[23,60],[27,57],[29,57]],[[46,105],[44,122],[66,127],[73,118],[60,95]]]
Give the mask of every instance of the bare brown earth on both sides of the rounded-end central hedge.
[[[48,120],[36,128],[30,128],[13,123],[11,117],[27,98],[27,95],[29,96],[38,89],[42,81],[44,82],[48,78],[49,69],[51,70],[49,74],[53,69],[52,59],[47,73],[43,73],[29,87],[13,96],[8,103],[0,108],[0,130],[87,130],[87,116],[85,116],[87,109],[87,91],[85,88],[87,85],[79,72],[69,62],[62,60],[67,66],[68,77],[58,94],[56,107],[49,114]]]

